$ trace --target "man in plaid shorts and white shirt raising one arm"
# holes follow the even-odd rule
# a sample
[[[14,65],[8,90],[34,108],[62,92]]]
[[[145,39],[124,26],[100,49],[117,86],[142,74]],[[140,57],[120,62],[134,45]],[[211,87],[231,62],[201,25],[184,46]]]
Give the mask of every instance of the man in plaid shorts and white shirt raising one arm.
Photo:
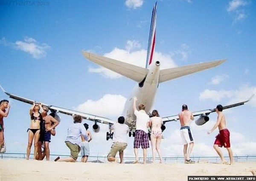
[[[134,97],[134,114],[136,115],[136,135],[134,138],[134,153],[136,160],[133,162],[137,164],[139,162],[138,158],[138,148],[140,145],[143,149],[143,164],[146,163],[147,157],[147,148],[149,148],[148,142],[148,124],[149,124],[149,116],[145,112],[145,105],[139,104],[139,111],[136,108],[137,98]]]

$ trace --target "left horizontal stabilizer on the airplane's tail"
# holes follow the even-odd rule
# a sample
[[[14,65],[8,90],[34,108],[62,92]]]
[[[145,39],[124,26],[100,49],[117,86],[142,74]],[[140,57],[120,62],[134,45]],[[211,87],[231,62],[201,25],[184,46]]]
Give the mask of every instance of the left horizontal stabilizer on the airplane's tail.
[[[103,57],[100,55],[92,54],[89,52],[82,51],[84,57],[88,60],[103,66],[107,69],[112,70],[120,75],[127,78],[135,80],[136,82],[141,82],[148,73],[148,70],[139,66],[135,66],[129,63],[114,60],[108,57]]]

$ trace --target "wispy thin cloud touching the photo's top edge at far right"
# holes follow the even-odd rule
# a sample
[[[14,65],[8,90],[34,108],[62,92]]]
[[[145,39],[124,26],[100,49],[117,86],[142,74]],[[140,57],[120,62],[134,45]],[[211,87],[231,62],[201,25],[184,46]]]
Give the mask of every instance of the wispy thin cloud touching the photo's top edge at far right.
[[[234,14],[233,23],[237,23],[246,18],[244,6],[247,6],[250,0],[231,0],[227,7],[227,12]]]

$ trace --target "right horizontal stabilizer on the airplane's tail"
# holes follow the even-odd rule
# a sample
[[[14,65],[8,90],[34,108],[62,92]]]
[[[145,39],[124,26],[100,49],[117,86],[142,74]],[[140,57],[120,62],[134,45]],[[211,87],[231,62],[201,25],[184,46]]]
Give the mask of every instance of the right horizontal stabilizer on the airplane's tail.
[[[198,63],[194,65],[180,66],[160,70],[159,83],[218,66],[224,61],[225,60],[216,60],[206,63]]]

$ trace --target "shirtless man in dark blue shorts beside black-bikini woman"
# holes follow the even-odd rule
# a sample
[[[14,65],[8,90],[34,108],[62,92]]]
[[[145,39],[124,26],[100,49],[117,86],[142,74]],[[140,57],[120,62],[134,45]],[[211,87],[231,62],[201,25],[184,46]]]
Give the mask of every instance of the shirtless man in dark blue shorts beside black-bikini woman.
[[[47,112],[49,111],[47,106],[43,106],[43,112],[41,113],[43,120],[45,130],[41,129],[40,132],[40,138],[38,141],[38,158],[39,160],[42,160],[42,144],[44,143],[44,151],[46,155],[46,160],[49,161],[50,159],[50,149],[49,149],[49,142],[51,142],[51,132],[53,129],[55,129],[56,126],[58,126],[59,122],[53,118],[51,115],[47,115]]]

